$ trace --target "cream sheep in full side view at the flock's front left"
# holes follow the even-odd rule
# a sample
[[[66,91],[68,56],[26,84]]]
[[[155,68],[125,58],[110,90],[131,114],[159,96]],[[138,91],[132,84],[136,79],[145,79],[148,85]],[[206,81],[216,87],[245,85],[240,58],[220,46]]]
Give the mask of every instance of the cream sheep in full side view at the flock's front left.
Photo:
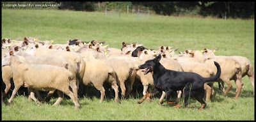
[[[38,100],[35,98],[35,91],[51,91],[58,89],[70,96],[75,104],[76,108],[79,108],[77,96],[69,90],[69,86],[73,89],[76,86],[75,80],[76,75],[69,72],[65,68],[53,65],[35,65],[29,63],[22,63],[18,56],[13,56],[13,52],[10,52],[10,57],[3,59],[2,66],[10,65],[13,71],[13,82],[15,88],[11,98],[8,103],[11,103],[15,94],[19,90],[20,86],[28,87],[29,97],[31,97],[35,102]],[[54,103],[57,105],[63,98],[60,92],[58,92],[59,98]],[[38,102],[40,103],[40,102]]]

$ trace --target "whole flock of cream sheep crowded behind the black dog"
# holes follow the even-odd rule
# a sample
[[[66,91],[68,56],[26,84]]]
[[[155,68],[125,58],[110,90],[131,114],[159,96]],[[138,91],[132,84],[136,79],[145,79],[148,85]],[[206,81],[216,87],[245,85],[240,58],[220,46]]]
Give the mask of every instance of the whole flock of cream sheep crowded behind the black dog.
[[[100,91],[100,102],[104,100],[104,82],[111,85],[115,91],[115,102],[120,102],[118,88],[121,95],[126,97],[134,87],[134,81],[140,80],[143,85],[143,95],[148,92],[149,86],[154,86],[151,73],[144,75],[138,68],[148,59],[158,54],[162,58],[160,63],[169,70],[180,72],[195,72],[202,77],[211,77],[216,74],[216,61],[221,66],[221,76],[216,82],[227,95],[232,88],[230,80],[236,81],[236,97],[241,94],[243,87],[242,77],[248,75],[253,86],[253,66],[246,57],[215,56],[214,50],[185,50],[175,54],[171,47],[159,46],[157,50],[150,50],[138,43],[122,43],[122,49],[108,47],[105,42],[83,42],[69,40],[66,44],[52,44],[51,41],[40,41],[37,38],[25,37],[23,41],[2,40],[2,77],[5,84],[3,98],[6,98],[13,79],[14,89],[8,100],[11,103],[21,86],[28,88],[29,100],[40,103],[42,96],[39,91],[49,91],[46,98],[49,100],[54,91],[58,99],[54,105],[60,104],[64,94],[68,95],[75,107],[79,108],[77,93],[81,91],[81,84],[93,86]],[[227,88],[224,87],[224,82]],[[214,82],[204,84],[205,100],[211,101]],[[79,87],[80,86],[80,87]],[[70,89],[71,88],[71,89]],[[179,102],[182,91],[177,91],[176,102]],[[36,95],[35,95],[36,94]],[[163,91],[159,103],[163,103],[166,93]],[[168,100],[166,101],[168,102]]]

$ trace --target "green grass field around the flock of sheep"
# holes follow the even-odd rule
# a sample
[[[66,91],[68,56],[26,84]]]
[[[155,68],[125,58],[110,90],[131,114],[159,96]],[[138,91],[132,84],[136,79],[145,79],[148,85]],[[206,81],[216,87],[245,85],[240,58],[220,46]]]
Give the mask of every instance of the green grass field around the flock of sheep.
[[[151,15],[137,19],[136,15],[122,14],[105,17],[104,13],[60,10],[2,10],[2,38],[22,40],[24,36],[40,40],[66,43],[79,38],[89,42],[106,41],[109,47],[120,49],[122,42],[137,42],[150,49],[170,45],[185,49],[218,49],[216,55],[244,56],[254,66],[254,20],[168,17]],[[70,99],[60,106],[50,103],[36,105],[27,97],[16,96],[11,105],[2,104],[3,120],[254,120],[254,96],[248,77],[243,78],[241,96],[235,100],[236,85],[227,96],[222,96],[214,84],[216,95],[203,111],[200,103],[190,100],[188,107],[175,109],[166,104],[136,103],[134,98],[104,100],[81,98],[81,109],[74,109]],[[11,91],[12,92],[12,91]]]

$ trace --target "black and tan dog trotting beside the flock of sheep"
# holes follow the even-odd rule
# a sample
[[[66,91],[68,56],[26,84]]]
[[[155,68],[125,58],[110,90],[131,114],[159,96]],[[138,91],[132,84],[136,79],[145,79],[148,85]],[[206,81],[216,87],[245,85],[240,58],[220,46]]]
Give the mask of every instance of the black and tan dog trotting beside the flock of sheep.
[[[195,98],[202,106],[198,109],[202,110],[206,106],[204,102],[204,83],[213,82],[219,79],[221,68],[218,63],[214,61],[214,65],[217,67],[216,75],[204,78],[197,73],[193,72],[176,72],[173,70],[167,70],[161,63],[159,63],[161,55],[146,61],[139,68],[146,75],[148,72],[152,73],[154,79],[154,89],[151,93],[147,93],[141,98],[138,103],[143,102],[145,98],[150,98],[159,92],[165,91],[166,93],[175,93],[179,90],[184,90],[184,106],[188,105],[189,97]],[[167,95],[168,96],[168,95]],[[166,96],[166,97],[167,97]],[[168,99],[168,98],[167,98]],[[181,105],[177,103],[175,107],[179,108]]]

